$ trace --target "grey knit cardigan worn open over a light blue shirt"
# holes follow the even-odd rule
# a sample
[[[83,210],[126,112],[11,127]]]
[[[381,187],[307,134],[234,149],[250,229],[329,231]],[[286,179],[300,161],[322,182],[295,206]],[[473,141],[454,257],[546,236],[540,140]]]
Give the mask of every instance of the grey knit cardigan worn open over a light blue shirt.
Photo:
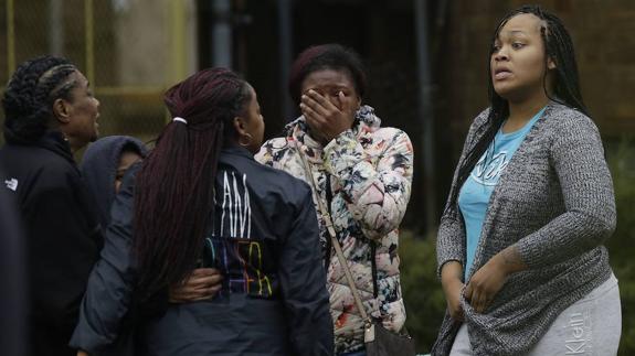
[[[490,125],[488,112],[472,125],[458,166]],[[606,281],[612,271],[602,244],[615,229],[615,215],[597,128],[580,111],[551,101],[489,199],[468,276],[510,245],[529,269],[511,274],[483,314],[461,301],[474,354],[529,352],[564,309]],[[465,266],[459,213],[442,217],[436,253],[438,272],[451,260]],[[446,313],[433,355],[449,354],[459,326]]]

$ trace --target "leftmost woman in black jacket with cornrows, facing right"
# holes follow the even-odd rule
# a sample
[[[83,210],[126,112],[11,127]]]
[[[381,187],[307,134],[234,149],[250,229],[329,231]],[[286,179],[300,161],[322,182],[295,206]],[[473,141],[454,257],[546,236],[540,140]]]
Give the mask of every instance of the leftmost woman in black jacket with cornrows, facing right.
[[[73,153],[97,138],[99,101],[71,62],[44,56],[18,67],[2,108],[0,188],[17,199],[25,228],[29,345],[33,355],[73,355],[67,343],[102,246]]]

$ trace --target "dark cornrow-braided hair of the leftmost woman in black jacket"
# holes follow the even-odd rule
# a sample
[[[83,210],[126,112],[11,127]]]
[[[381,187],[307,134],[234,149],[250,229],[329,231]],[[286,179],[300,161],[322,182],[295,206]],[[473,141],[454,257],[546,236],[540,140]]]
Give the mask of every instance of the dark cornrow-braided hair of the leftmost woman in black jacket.
[[[29,144],[50,128],[56,99],[72,101],[77,86],[71,74],[77,68],[62,57],[41,56],[22,63],[13,73],[4,96],[4,140]]]

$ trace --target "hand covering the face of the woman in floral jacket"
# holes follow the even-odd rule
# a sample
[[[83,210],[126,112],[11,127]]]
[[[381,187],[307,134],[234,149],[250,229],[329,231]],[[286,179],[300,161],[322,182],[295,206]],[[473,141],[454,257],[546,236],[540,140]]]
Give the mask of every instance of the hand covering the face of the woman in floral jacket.
[[[352,127],[356,111],[352,99],[341,90],[337,97],[328,98],[313,89],[303,95],[300,110],[317,139],[327,143]]]

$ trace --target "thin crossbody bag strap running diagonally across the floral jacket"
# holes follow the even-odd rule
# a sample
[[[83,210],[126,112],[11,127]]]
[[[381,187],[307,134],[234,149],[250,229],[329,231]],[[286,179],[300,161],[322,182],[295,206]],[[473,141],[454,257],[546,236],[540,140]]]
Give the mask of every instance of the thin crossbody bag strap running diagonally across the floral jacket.
[[[335,231],[335,227],[332,225],[332,220],[330,218],[330,214],[328,213],[328,209],[326,209],[322,201],[319,197],[318,183],[316,182],[316,179],[313,175],[310,164],[306,158],[306,154],[301,151],[301,147],[299,145],[299,143],[296,145],[296,149],[298,151],[299,157],[303,160],[303,165],[305,168],[305,175],[307,176],[307,180],[309,181],[309,184],[313,186],[313,191],[316,194],[316,199],[318,202],[318,211],[319,211],[318,213],[324,218],[326,228],[327,228],[328,234],[329,234],[330,239],[331,239],[332,247],[335,249],[335,252],[337,255],[339,263],[341,265],[341,267],[343,269],[343,273],[345,273],[346,280],[348,282],[348,285],[350,287],[350,290],[352,291],[352,296],[354,299],[354,303],[357,304],[357,309],[358,309],[359,313],[361,314],[361,317],[364,320],[364,323],[370,324],[371,321],[368,317],[366,310],[363,309],[361,298],[359,296],[359,290],[354,285],[354,280],[352,279],[352,273],[350,272],[350,269],[348,268],[348,263],[346,261],[346,258],[343,257],[343,252],[341,251],[341,246],[339,245],[339,241],[337,239],[337,235]]]

